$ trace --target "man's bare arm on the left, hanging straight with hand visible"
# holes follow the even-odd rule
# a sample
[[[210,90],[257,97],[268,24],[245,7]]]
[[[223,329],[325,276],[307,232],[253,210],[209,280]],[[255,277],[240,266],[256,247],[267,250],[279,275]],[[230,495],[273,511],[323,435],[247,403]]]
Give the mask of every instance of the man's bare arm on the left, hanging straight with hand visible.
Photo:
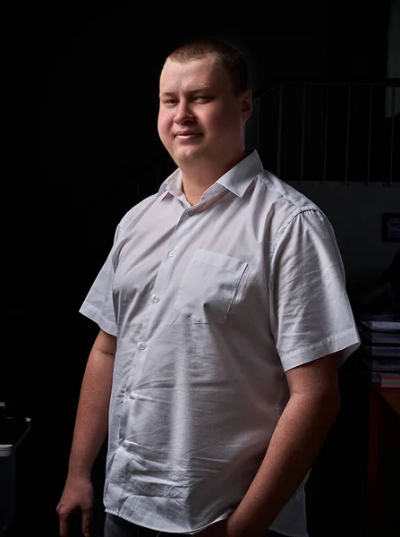
[[[89,537],[93,508],[90,476],[98,452],[106,439],[116,338],[100,330],[86,365],[73,430],[68,476],[56,507],[60,535],[70,535],[70,520],[81,511],[82,533]]]

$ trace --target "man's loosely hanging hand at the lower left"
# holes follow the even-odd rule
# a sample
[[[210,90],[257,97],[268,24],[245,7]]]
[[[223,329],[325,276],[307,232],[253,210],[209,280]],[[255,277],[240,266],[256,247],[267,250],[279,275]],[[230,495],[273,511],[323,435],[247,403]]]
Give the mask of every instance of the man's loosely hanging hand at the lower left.
[[[89,537],[93,497],[90,480],[68,476],[63,495],[55,509],[60,522],[60,537],[72,537],[71,521],[77,511],[81,512],[82,533],[85,537]]]

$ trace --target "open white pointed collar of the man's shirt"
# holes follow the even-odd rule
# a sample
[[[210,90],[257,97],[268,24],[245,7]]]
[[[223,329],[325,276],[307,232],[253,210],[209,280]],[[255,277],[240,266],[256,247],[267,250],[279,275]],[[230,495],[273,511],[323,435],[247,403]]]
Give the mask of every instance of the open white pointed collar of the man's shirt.
[[[254,177],[262,171],[262,162],[256,149],[252,149],[251,153],[243,158],[236,166],[231,168],[226,174],[219,177],[216,183],[208,189],[209,194],[215,194],[227,189],[233,192],[239,198],[242,198]],[[174,196],[182,194],[182,174],[181,169],[176,170],[169,175],[161,184],[157,197],[165,192],[170,192]]]

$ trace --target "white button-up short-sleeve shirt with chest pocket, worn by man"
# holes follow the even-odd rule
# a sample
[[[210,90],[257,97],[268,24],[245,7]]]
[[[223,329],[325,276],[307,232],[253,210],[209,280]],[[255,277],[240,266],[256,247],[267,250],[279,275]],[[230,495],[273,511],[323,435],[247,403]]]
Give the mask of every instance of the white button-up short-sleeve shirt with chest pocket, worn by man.
[[[328,218],[256,151],[193,207],[181,182],[122,218],[80,311],[117,337],[106,511],[196,533],[250,487],[285,371],[360,338]],[[307,536],[305,482],[270,529]]]

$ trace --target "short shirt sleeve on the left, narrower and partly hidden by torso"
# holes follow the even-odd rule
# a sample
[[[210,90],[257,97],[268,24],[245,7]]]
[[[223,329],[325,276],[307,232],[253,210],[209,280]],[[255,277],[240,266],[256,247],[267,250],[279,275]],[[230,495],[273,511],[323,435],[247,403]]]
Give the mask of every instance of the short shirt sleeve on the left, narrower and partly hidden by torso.
[[[118,235],[115,232],[115,241]],[[113,287],[115,278],[115,267],[113,264],[114,246],[109,252],[103,267],[98,272],[98,276],[89,289],[84,302],[81,305],[80,313],[98,324],[98,327],[112,336],[117,335],[115,320],[115,308],[113,302]]]

